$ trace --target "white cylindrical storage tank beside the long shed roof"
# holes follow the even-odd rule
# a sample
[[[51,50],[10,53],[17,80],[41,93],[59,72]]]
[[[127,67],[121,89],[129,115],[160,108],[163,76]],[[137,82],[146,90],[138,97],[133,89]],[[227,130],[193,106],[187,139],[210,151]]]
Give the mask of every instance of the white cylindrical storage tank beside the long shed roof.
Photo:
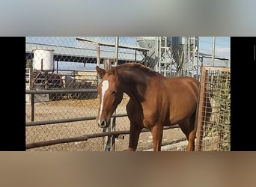
[[[33,69],[40,71],[53,70],[53,49],[33,49]]]

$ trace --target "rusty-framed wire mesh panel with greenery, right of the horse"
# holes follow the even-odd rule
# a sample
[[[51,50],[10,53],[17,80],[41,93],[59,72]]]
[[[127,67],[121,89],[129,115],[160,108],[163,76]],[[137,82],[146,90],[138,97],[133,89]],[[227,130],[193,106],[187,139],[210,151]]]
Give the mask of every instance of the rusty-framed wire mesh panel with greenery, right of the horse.
[[[196,150],[231,150],[231,73],[202,67]]]

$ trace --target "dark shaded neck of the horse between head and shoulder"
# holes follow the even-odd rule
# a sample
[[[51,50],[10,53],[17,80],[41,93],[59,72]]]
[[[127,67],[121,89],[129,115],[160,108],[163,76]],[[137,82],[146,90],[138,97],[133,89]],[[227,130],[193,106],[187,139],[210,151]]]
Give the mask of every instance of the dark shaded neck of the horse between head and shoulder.
[[[146,76],[140,72],[124,71],[121,74],[122,85],[124,93],[127,93],[131,98],[144,100],[144,91],[147,88]]]

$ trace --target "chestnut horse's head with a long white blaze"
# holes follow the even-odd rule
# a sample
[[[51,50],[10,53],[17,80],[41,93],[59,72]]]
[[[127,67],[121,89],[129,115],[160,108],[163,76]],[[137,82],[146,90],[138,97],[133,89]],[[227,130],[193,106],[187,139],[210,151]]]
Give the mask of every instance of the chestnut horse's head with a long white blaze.
[[[121,89],[118,72],[115,67],[106,72],[106,70],[97,66],[96,70],[101,78],[101,82],[98,85],[100,108],[96,120],[98,126],[104,128],[109,126],[112,114],[123,99],[124,91]]]

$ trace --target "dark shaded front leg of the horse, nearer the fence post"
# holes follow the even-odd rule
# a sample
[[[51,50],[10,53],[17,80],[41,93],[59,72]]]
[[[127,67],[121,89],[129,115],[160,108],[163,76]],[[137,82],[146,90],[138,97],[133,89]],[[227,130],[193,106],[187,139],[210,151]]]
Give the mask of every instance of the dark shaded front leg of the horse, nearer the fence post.
[[[141,128],[140,126],[138,126],[138,124],[136,123],[130,123],[130,128],[129,128],[129,147],[128,150],[130,151],[135,151],[137,149],[138,146],[138,138],[139,138],[139,134],[141,133],[141,130],[143,128]]]

